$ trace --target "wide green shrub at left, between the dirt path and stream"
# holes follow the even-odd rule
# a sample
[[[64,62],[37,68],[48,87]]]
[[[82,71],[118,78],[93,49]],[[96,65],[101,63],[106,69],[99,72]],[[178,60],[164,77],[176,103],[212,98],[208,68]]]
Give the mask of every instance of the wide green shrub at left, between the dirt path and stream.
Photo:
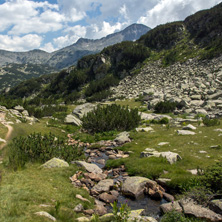
[[[49,134],[33,133],[26,137],[14,138],[9,145],[9,165],[14,169],[22,168],[27,162],[46,162],[53,157],[68,162],[80,158],[83,150],[78,145],[70,146],[62,138]]]

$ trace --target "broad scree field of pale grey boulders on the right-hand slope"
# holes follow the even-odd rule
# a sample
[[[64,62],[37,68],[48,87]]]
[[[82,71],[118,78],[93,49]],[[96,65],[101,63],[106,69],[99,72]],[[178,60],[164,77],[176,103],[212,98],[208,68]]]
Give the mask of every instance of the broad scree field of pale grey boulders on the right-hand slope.
[[[161,61],[147,64],[138,75],[127,76],[111,88],[113,98],[144,95],[149,108],[163,100],[179,103],[178,112],[222,116],[222,56],[213,60],[190,59],[162,67]],[[152,115],[142,114],[151,120]]]

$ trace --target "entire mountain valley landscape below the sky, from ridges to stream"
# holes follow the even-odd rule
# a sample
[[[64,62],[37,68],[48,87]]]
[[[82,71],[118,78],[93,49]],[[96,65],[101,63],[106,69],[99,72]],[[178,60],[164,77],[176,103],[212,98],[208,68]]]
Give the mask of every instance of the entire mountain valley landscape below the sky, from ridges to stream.
[[[222,3],[0,54],[0,221],[222,221]]]

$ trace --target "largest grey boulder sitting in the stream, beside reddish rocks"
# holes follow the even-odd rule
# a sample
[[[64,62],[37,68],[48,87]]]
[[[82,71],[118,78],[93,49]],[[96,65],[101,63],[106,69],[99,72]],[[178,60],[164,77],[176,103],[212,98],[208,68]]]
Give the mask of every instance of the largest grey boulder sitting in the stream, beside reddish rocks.
[[[123,182],[122,193],[126,196],[139,199],[144,196],[146,184],[150,181],[150,179],[145,177],[127,177],[127,179]]]

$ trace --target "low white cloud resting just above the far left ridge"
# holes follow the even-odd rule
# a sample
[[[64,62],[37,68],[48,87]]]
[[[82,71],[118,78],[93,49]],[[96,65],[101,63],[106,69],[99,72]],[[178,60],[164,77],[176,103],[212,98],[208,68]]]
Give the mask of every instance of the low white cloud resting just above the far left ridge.
[[[24,51],[40,47],[43,38],[36,34],[23,37],[0,35],[0,48],[9,51]]]

